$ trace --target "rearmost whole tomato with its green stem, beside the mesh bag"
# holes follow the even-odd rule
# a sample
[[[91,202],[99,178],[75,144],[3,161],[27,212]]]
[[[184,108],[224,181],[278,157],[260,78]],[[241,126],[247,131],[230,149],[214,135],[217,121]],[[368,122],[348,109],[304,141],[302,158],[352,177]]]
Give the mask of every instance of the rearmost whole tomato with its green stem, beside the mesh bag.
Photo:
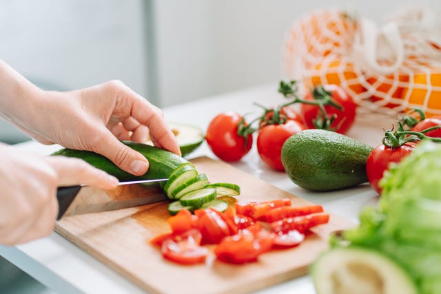
[[[323,116],[318,105],[301,103],[300,113],[303,116],[303,123],[310,129],[329,129],[346,134],[356,118],[357,104],[345,90],[338,85],[323,85],[308,92],[304,100],[325,101],[329,100],[329,96],[336,105],[324,106],[326,117]],[[330,125],[327,125],[325,120],[328,120]]]

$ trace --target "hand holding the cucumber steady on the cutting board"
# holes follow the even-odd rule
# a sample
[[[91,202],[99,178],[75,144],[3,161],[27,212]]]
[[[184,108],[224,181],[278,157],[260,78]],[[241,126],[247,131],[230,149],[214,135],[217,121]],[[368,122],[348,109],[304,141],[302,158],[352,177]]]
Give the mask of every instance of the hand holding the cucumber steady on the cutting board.
[[[72,92],[28,92],[33,109],[12,122],[41,143],[94,151],[138,176],[147,171],[147,159],[120,140],[145,143],[150,136],[155,146],[181,154],[161,109],[121,81]]]

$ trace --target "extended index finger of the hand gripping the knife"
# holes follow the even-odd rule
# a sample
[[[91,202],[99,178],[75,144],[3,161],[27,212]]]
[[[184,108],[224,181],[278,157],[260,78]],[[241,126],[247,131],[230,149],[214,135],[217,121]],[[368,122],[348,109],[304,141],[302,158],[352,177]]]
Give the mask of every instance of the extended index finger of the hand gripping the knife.
[[[101,189],[112,189],[118,185],[118,179],[101,169],[96,169],[79,158],[49,156],[48,162],[58,174],[58,186],[85,184]]]

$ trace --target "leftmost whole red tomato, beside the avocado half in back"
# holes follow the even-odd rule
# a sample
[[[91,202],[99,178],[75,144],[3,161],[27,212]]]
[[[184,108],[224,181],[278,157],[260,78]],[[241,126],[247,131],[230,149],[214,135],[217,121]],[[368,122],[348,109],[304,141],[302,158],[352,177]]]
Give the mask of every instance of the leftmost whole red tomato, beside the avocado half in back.
[[[238,134],[240,124],[246,127],[243,117],[236,112],[218,114],[209,123],[205,139],[218,158],[225,161],[237,161],[249,152],[253,145],[252,134],[244,136]]]

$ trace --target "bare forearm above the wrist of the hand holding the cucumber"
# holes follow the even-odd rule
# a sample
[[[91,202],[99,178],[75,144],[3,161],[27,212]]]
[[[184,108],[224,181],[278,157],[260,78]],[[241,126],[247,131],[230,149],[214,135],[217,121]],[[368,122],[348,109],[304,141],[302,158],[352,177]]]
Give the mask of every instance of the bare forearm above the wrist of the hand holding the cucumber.
[[[6,120],[23,125],[43,97],[43,91],[0,60],[0,114]]]

